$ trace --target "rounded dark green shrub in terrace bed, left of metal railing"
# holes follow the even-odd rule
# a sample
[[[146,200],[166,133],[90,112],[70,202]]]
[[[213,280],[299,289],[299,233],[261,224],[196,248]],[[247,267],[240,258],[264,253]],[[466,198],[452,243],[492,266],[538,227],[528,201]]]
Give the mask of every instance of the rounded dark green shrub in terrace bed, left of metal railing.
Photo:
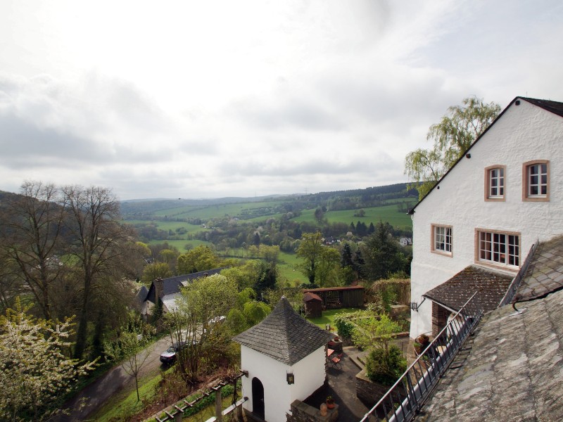
[[[374,383],[393,385],[407,370],[407,360],[396,345],[376,347],[367,355],[367,378]]]

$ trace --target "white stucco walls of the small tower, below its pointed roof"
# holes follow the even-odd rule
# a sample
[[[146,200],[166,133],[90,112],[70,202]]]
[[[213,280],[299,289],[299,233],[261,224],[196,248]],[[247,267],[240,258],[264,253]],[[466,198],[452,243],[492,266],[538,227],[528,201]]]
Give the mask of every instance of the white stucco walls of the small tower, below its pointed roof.
[[[258,378],[264,386],[265,420],[286,422],[293,400],[303,400],[324,383],[324,346],[293,366],[278,362],[265,354],[241,345],[241,369],[248,371],[248,378],[242,378],[243,395],[248,402],[245,409],[253,410],[252,379]],[[289,385],[286,373],[293,372],[295,383]]]

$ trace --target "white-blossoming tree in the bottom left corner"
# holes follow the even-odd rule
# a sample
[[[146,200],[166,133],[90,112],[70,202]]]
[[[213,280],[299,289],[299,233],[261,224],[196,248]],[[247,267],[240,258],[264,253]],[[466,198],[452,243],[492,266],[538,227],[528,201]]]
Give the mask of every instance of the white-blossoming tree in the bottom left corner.
[[[0,420],[43,421],[95,363],[68,359],[72,321],[34,319],[19,301],[0,316]],[[54,327],[54,328],[53,328]]]

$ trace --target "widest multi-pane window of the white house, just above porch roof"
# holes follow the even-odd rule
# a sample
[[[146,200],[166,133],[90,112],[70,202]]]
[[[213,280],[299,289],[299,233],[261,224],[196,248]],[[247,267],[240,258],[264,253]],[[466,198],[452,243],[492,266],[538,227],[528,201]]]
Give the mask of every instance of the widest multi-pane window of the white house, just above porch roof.
[[[479,261],[510,267],[519,267],[519,234],[484,230],[478,231],[477,234],[477,257]]]

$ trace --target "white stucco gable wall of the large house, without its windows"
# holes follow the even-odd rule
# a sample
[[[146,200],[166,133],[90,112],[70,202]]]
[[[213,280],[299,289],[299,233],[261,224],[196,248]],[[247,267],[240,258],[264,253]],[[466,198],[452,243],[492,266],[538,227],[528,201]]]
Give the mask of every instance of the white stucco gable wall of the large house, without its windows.
[[[563,234],[563,118],[526,101],[514,103],[434,188],[413,219],[411,300],[475,264],[476,228],[518,232],[520,264],[531,245]],[[550,160],[549,202],[522,200],[522,165]],[[487,202],[485,168],[505,165],[505,202]],[[452,257],[431,252],[431,224],[453,226]],[[514,271],[508,271],[515,274]],[[431,331],[431,302],[411,312],[411,337]]]

